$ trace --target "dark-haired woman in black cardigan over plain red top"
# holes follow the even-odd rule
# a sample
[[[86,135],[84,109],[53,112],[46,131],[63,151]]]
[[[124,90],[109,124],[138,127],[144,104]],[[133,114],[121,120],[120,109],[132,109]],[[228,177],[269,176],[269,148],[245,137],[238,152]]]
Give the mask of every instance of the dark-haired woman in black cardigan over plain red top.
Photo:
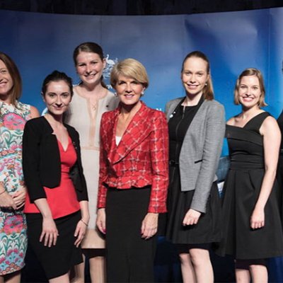
[[[66,74],[47,76],[42,97],[48,112],[28,121],[23,134],[28,241],[54,283],[69,282],[69,270],[82,262],[79,245],[89,220],[79,134],[62,122],[72,93]]]

